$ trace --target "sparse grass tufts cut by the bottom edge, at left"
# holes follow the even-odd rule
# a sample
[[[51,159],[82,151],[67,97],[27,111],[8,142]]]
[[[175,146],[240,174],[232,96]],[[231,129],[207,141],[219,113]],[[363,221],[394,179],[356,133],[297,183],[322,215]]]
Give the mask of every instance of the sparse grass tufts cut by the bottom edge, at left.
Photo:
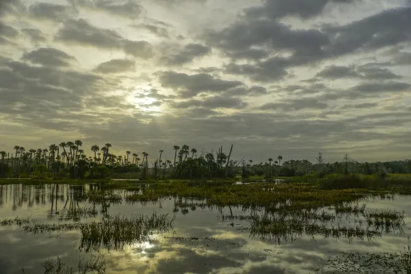
[[[78,271],[75,271],[73,267],[66,266],[62,260],[58,257],[57,260],[47,260],[45,262],[45,274],[73,274],[73,273],[105,273],[105,260],[103,256],[90,256],[88,260],[79,259],[77,264]],[[23,271],[24,272],[24,271]]]

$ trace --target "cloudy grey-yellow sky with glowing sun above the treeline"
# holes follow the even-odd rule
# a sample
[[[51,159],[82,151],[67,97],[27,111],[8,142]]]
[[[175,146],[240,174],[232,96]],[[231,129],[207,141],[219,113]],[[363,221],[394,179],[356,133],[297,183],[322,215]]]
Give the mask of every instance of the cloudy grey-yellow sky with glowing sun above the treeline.
[[[0,150],[410,158],[410,25],[410,0],[2,0]]]

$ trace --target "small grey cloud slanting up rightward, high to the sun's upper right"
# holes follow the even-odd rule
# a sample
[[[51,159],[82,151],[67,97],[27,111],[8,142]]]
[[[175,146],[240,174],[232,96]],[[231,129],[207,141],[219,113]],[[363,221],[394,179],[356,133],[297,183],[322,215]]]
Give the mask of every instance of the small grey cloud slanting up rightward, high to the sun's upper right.
[[[179,66],[192,62],[195,58],[203,57],[210,53],[211,48],[201,44],[188,44],[183,49],[179,50],[170,56],[163,58],[166,64],[171,66]]]

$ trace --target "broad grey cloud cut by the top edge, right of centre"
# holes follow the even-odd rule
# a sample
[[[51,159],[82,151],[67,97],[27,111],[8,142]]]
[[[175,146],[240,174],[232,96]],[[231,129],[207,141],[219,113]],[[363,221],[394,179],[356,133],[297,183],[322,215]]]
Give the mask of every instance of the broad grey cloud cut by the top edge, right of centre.
[[[358,0],[265,0],[263,5],[249,8],[246,14],[253,18],[282,18],[285,16],[299,16],[303,19],[319,16],[327,4],[354,3]]]

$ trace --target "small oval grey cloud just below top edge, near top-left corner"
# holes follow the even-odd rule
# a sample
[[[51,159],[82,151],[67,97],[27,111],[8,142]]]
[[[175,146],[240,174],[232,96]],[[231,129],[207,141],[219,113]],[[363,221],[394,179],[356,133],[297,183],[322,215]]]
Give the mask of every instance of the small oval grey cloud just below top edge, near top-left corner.
[[[61,22],[76,14],[68,5],[36,2],[29,6],[29,14],[36,19]]]

